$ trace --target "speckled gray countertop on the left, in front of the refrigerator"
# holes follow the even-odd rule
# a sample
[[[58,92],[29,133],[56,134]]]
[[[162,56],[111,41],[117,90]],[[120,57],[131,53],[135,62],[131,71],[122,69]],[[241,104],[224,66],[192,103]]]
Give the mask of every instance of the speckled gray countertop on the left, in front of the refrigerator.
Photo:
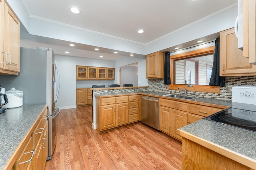
[[[3,169],[46,104],[24,105],[0,114],[0,169]]]

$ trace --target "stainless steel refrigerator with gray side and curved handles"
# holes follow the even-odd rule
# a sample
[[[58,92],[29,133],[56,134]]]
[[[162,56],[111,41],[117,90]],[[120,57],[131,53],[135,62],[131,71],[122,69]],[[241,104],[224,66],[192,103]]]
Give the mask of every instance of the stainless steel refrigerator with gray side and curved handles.
[[[48,158],[56,146],[56,116],[60,109],[56,106],[60,89],[60,74],[52,49],[20,48],[20,73],[17,76],[0,75],[2,87],[11,87],[24,92],[23,105],[48,103]]]

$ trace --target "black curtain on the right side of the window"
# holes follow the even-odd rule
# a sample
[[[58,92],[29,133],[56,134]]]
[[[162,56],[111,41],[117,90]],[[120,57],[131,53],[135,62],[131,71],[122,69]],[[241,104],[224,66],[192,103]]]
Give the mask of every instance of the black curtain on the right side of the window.
[[[210,86],[225,86],[225,77],[220,77],[220,38],[215,40],[215,49],[213,55],[212,76]]]

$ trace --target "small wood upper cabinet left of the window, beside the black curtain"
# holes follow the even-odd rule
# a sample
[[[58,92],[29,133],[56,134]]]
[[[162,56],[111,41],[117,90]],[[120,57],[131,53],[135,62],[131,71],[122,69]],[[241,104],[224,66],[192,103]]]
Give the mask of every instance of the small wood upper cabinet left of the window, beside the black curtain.
[[[147,78],[164,78],[164,53],[155,52],[146,55]]]

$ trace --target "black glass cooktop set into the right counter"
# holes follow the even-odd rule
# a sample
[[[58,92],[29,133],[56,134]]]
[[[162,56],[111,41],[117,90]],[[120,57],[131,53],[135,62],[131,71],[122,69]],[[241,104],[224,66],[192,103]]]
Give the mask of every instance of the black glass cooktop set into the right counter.
[[[204,119],[256,132],[256,111],[229,108]]]

